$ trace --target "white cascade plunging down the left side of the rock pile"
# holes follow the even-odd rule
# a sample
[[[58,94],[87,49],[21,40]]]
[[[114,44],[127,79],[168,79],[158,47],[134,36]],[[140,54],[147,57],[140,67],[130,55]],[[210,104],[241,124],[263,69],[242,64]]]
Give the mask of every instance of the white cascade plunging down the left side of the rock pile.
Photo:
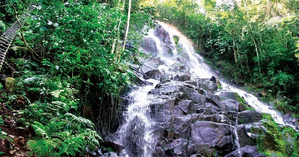
[[[119,143],[125,146],[125,153],[121,157],[150,157],[154,148],[152,135],[153,121],[149,116],[150,95],[148,92],[158,81],[152,80],[153,85],[139,87],[129,96],[133,102],[124,113],[124,124],[119,128]]]

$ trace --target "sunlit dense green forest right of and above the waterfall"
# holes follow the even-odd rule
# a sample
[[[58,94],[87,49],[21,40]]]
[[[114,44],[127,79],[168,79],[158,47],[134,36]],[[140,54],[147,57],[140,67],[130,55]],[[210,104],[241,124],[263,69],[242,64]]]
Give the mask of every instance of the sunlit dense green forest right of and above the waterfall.
[[[154,1],[154,0],[151,0]],[[234,82],[263,91],[299,112],[298,0],[163,0],[147,2],[193,40],[208,62]],[[297,56],[297,57],[296,57]],[[276,96],[280,96],[283,99]]]

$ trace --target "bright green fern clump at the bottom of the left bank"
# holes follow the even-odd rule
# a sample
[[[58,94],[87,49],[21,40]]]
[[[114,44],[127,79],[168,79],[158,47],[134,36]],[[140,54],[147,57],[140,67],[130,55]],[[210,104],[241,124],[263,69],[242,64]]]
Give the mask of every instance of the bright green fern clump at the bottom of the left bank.
[[[101,136],[94,131],[94,124],[85,118],[66,113],[64,117],[52,118],[43,125],[34,122],[31,125],[39,139],[29,140],[27,147],[32,156],[61,157],[84,153],[85,148],[99,147]]]

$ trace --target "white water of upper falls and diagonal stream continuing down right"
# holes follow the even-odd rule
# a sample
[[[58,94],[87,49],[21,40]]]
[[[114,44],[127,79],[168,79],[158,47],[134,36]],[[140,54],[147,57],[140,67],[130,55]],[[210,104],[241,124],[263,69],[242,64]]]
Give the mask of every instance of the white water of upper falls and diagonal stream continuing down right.
[[[211,68],[204,63],[203,58],[195,52],[192,42],[185,37],[183,34],[181,34],[175,27],[170,26],[164,22],[158,22],[166,31],[168,31],[169,36],[171,40],[173,40],[173,35],[179,36],[179,44],[182,44],[183,46],[183,51],[187,54],[189,59],[186,59],[187,65],[186,67],[190,68],[190,73],[192,74],[193,77],[199,77],[199,78],[211,78],[212,76],[217,77],[217,74],[211,70]],[[158,57],[161,58],[161,60],[167,65],[170,66],[173,63],[176,63],[176,58],[180,57],[179,54],[174,54],[172,57],[165,56],[165,52],[162,51],[162,48],[160,47],[162,44],[160,43],[160,40],[153,34],[153,31],[149,32],[149,37],[152,37],[155,39],[157,47],[158,47]],[[262,112],[262,113],[267,113],[270,114],[275,122],[278,124],[282,125],[290,125],[293,128],[292,124],[286,124],[283,119],[282,119],[282,114],[278,111],[276,111],[273,108],[270,108],[270,106],[266,103],[263,103],[258,100],[257,97],[255,97],[252,94],[249,94],[243,90],[240,90],[232,85],[229,85],[225,83],[225,81],[221,82],[223,89],[236,92],[238,93],[241,97],[245,99],[245,101],[252,106],[256,111]],[[221,91],[219,91],[216,94],[220,94]]]

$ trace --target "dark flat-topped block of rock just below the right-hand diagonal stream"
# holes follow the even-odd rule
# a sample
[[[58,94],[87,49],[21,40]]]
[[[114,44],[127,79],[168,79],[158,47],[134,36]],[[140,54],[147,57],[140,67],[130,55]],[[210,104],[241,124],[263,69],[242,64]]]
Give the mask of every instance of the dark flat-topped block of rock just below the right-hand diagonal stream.
[[[239,124],[248,124],[253,122],[258,122],[262,120],[262,113],[246,110],[238,113],[238,123]]]

